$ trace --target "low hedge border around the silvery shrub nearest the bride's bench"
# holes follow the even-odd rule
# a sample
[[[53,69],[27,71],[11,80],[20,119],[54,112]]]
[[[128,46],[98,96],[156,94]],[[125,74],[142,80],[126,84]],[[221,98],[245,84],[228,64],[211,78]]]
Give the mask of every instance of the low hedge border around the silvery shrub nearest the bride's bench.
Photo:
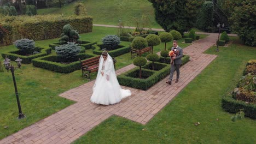
[[[51,55],[51,56],[44,56],[35,58],[32,60],[32,63],[35,67],[53,70],[58,73],[72,73],[75,70],[81,69],[80,59],[88,59],[91,57],[95,57],[95,55],[89,55],[86,53],[79,53],[77,57],[73,58],[74,62],[69,64],[62,64],[61,61],[63,60],[60,56]]]

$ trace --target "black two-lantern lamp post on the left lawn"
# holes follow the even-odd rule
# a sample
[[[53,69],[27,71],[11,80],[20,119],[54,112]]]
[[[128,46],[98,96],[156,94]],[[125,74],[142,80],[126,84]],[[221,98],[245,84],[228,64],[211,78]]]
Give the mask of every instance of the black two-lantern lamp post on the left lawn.
[[[17,103],[18,103],[18,108],[19,108],[19,119],[21,118],[25,118],[24,114],[21,111],[21,106],[20,106],[20,99],[19,99],[19,95],[18,95],[18,90],[17,90],[17,86],[16,86],[16,80],[15,80],[15,76],[14,76],[14,69],[15,68],[19,68],[21,67],[21,61],[22,59],[20,59],[19,57],[15,60],[15,62],[17,63],[18,67],[14,67],[13,65],[10,65],[10,59],[5,57],[4,59],[4,67],[5,69],[7,69],[7,71],[11,71],[11,74],[13,75],[13,83],[14,83],[14,88],[15,88],[15,94],[16,94],[16,99],[17,99]]]

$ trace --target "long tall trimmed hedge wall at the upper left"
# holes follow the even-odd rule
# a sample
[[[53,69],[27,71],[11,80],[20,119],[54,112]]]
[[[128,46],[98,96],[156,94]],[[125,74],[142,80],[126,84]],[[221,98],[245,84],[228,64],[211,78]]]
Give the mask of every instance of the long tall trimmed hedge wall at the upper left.
[[[0,38],[0,45],[12,44],[14,40],[27,38],[33,40],[59,38],[62,27],[66,24],[79,33],[92,32],[92,17],[90,16],[1,16],[0,21],[8,33]]]

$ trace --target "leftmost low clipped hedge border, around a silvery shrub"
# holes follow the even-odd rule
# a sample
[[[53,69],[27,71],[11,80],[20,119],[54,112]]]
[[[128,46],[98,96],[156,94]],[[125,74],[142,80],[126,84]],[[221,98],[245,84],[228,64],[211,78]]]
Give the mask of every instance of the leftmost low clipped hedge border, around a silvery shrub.
[[[40,53],[37,53],[35,55],[31,55],[31,56],[22,56],[22,55],[18,55],[16,53],[11,53],[11,52],[17,52],[20,50],[15,50],[15,51],[9,51],[9,52],[3,52],[2,53],[2,57],[5,58],[5,55],[11,59],[11,61],[15,61],[15,59],[17,59],[18,57],[22,59],[22,63],[25,64],[30,64],[32,62],[32,59],[37,58],[37,57],[42,57],[42,56],[46,56],[49,55],[51,53],[51,48],[44,48],[44,47],[36,47],[36,48],[40,48],[42,49],[40,51]]]

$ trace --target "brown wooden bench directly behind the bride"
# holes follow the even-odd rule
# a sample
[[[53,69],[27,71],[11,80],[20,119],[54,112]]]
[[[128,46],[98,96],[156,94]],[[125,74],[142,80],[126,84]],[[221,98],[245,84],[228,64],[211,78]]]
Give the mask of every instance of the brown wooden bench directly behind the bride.
[[[90,79],[90,73],[94,71],[98,71],[100,57],[101,56],[97,56],[90,59],[86,59],[84,61],[81,61],[81,59],[79,58],[83,77]],[[113,57],[112,59],[113,59],[114,68],[115,68],[115,63],[117,62],[117,60],[115,60],[115,58]]]

